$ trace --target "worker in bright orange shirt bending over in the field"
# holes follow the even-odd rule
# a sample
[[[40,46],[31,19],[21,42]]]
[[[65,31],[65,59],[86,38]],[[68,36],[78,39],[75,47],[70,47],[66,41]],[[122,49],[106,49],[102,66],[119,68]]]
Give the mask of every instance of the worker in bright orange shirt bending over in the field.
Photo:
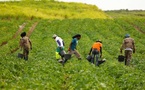
[[[91,63],[94,63],[96,57],[96,65],[98,66],[98,59],[102,57],[102,42],[101,40],[97,40],[91,47],[89,55],[92,53]]]

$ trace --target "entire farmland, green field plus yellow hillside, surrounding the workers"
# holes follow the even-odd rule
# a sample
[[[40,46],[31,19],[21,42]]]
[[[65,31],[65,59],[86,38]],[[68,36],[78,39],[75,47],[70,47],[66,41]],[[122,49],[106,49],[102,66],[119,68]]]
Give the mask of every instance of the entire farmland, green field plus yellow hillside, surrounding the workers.
[[[96,6],[62,2],[0,3],[0,89],[1,90],[144,90],[144,11],[106,11]],[[138,16],[139,15],[139,16]],[[20,33],[27,32],[33,44],[29,60],[17,58]],[[75,56],[63,67],[55,59],[53,34],[62,37],[65,50],[72,36],[81,34]],[[135,40],[131,65],[118,62],[124,35]],[[86,56],[101,39],[103,58],[99,67]]]

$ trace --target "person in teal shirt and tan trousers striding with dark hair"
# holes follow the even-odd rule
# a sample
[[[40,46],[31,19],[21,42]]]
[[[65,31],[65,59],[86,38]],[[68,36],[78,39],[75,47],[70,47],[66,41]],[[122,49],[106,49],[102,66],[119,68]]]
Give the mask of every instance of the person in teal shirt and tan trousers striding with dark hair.
[[[81,35],[80,34],[76,34],[75,36],[72,37],[72,41],[70,43],[69,49],[68,49],[68,54],[75,54],[75,56],[78,58],[78,60],[81,60],[81,56],[79,54],[79,52],[77,51],[76,47],[78,44],[78,40],[81,39]]]

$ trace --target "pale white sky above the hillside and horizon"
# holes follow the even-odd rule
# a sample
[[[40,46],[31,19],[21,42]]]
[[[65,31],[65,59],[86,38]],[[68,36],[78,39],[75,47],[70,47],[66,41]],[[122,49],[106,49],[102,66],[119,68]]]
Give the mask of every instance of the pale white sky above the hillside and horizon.
[[[82,2],[98,6],[101,10],[145,10],[145,0],[58,0],[65,2]]]

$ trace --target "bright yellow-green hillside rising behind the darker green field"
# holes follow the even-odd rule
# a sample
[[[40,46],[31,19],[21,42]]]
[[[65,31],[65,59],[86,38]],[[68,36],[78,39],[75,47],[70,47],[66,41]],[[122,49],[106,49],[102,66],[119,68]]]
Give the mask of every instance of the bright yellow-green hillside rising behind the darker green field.
[[[81,3],[26,0],[21,2],[1,2],[0,7],[0,18],[2,19],[108,18],[96,6]]]

